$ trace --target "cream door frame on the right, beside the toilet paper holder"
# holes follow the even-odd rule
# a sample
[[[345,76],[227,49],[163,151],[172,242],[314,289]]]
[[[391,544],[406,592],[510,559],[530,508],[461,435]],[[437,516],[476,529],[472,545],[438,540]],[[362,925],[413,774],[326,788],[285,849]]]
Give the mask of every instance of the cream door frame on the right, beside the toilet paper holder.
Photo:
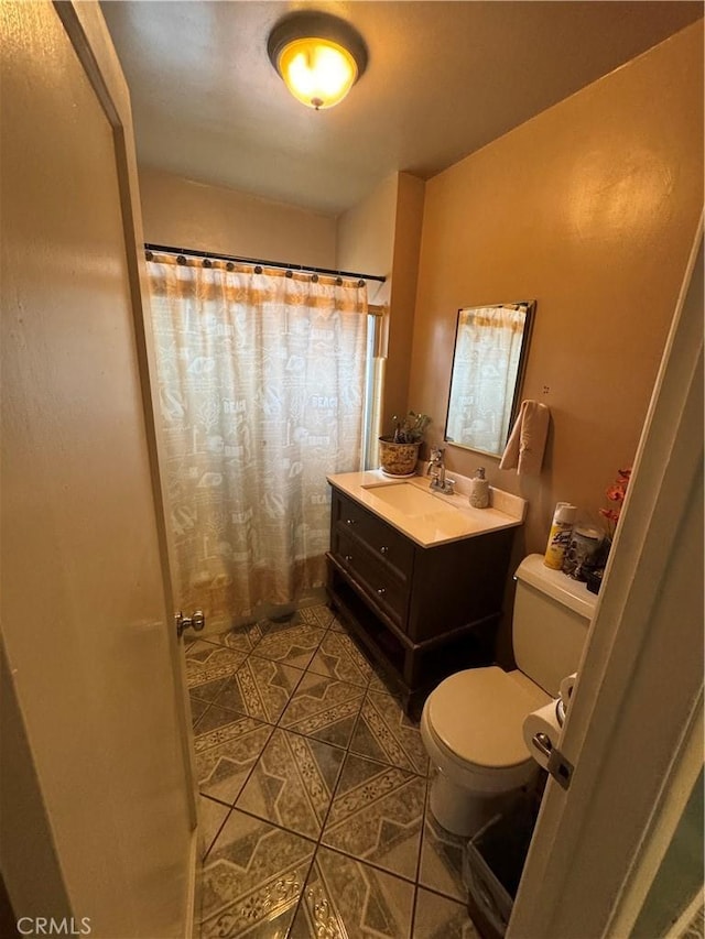
[[[628,936],[703,766],[703,217],[511,937]]]

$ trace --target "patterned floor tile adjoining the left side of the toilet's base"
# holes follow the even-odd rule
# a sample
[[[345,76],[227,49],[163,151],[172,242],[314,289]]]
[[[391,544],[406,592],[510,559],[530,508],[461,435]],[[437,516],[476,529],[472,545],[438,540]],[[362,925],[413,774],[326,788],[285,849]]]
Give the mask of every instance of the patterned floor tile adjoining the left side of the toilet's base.
[[[348,753],[322,841],[415,880],[426,780]]]

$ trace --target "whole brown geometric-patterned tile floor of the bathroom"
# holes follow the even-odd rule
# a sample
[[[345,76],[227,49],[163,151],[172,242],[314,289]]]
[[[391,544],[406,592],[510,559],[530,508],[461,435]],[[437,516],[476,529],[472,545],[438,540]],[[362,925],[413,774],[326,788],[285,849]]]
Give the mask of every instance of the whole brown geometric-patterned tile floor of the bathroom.
[[[202,937],[476,939],[416,724],[327,607],[192,641]]]

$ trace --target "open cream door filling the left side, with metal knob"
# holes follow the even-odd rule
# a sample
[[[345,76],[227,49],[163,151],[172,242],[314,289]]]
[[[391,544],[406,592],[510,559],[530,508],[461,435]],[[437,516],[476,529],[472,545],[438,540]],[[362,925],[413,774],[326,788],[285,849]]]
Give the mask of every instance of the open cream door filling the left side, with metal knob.
[[[6,0],[0,28],[2,873],[25,931],[183,937],[194,796],[127,88],[97,3]]]

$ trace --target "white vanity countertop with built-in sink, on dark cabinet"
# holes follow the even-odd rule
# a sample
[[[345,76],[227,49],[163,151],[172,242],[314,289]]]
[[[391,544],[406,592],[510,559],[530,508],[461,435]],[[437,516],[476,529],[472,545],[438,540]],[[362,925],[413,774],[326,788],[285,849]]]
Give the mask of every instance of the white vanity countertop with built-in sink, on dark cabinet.
[[[424,548],[457,542],[462,538],[473,538],[498,532],[501,528],[513,528],[523,523],[527,512],[527,500],[490,485],[490,507],[473,509],[467,495],[444,495],[430,488],[429,477],[398,478],[384,476],[381,470],[368,472],[344,472],[327,477],[330,485],[339,489],[350,499],[369,509],[375,515],[383,518],[402,534],[406,535]],[[389,488],[411,485],[410,499],[404,493],[392,493]],[[376,493],[377,490],[377,493]],[[387,490],[387,492],[384,492]],[[426,499],[424,496],[430,496]],[[404,511],[403,503],[414,504],[411,511]],[[398,502],[400,504],[390,504]],[[434,504],[437,502],[437,507]],[[500,507],[501,506],[501,507]]]

